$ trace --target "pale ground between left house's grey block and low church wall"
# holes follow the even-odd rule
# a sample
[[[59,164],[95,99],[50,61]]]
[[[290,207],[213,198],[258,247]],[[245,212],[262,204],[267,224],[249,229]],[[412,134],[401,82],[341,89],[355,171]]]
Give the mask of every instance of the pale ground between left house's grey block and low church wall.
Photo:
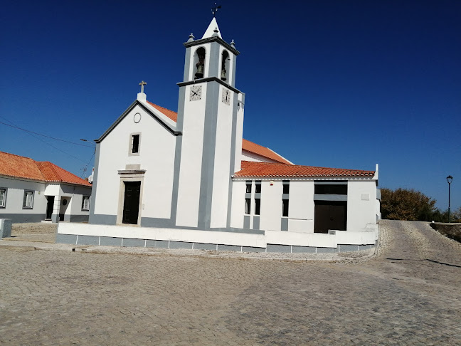
[[[51,223],[27,223],[13,224],[11,227],[11,240],[41,241],[54,243],[58,224]],[[5,238],[7,239],[7,238]]]

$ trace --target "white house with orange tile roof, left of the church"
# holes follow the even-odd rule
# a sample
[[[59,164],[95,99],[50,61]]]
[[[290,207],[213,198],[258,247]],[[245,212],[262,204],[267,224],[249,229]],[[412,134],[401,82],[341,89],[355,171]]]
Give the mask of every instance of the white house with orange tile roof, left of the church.
[[[0,152],[0,219],[88,221],[91,187],[51,162]]]

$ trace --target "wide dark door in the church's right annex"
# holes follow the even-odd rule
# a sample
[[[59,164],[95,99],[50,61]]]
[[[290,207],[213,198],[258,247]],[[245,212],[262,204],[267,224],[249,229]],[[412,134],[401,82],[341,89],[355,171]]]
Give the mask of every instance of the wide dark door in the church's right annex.
[[[315,201],[314,233],[346,231],[347,201]]]

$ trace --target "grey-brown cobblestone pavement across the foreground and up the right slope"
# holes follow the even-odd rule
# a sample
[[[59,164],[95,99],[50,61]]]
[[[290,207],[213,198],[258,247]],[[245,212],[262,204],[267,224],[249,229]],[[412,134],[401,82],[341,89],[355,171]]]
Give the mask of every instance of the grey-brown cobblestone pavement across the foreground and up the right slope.
[[[461,245],[382,221],[369,261],[0,246],[4,345],[460,345]]]

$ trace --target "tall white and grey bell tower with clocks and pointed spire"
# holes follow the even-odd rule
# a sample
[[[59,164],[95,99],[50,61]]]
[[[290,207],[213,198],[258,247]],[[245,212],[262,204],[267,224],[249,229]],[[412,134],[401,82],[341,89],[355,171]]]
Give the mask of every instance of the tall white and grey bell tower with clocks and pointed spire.
[[[184,43],[179,85],[171,218],[178,227],[226,229],[231,176],[240,169],[245,95],[235,88],[239,52],[226,43],[213,18],[202,38]]]

